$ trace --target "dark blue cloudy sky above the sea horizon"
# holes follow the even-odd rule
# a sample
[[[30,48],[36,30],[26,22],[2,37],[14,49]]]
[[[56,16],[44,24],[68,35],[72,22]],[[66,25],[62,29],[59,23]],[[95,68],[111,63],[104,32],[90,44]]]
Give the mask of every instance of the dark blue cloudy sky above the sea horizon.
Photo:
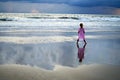
[[[120,0],[0,0],[0,13],[120,15]]]

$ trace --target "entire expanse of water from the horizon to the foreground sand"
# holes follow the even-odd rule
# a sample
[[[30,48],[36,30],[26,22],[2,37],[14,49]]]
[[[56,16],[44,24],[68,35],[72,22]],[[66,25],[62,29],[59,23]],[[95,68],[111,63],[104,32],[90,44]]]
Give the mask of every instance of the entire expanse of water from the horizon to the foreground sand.
[[[83,23],[82,62],[76,46]],[[84,43],[79,42],[83,48]],[[120,65],[120,15],[0,13],[0,64],[53,70],[55,65]]]

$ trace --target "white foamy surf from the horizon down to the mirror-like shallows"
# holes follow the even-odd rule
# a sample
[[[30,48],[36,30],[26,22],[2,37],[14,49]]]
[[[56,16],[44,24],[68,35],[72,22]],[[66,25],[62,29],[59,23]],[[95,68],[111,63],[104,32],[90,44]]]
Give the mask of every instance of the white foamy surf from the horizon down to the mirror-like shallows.
[[[119,21],[118,15],[0,13],[0,41],[75,41],[80,22],[84,23],[86,38],[119,38]]]

